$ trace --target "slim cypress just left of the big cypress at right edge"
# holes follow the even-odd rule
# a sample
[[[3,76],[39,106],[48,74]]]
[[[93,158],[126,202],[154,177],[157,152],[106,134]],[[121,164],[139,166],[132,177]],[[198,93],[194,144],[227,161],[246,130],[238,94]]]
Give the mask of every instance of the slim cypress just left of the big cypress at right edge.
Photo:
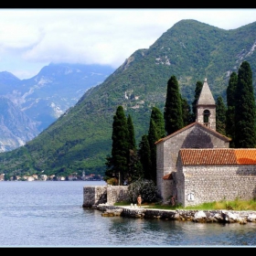
[[[235,102],[236,102],[236,88],[238,84],[238,75],[232,72],[229,78],[229,85],[227,87],[227,112],[226,112],[226,135],[232,140],[229,147],[235,147]]]

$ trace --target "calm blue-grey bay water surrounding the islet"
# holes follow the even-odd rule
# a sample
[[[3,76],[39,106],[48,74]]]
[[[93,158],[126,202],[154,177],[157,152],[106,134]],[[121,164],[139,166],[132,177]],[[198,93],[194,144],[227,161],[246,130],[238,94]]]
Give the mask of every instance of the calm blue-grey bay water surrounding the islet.
[[[83,187],[103,181],[0,182],[0,247],[255,247],[256,223],[101,217]]]

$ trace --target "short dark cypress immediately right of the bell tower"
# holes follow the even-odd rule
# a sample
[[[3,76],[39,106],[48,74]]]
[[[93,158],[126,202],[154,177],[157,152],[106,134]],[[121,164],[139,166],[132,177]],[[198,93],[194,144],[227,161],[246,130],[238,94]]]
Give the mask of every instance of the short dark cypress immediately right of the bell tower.
[[[226,134],[226,112],[223,98],[219,96],[216,102],[216,131],[223,135]]]

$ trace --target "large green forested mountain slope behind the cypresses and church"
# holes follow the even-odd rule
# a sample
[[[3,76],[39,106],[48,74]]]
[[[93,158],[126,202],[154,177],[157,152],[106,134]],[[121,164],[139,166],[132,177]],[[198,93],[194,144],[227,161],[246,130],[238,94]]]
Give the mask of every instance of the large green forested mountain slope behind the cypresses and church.
[[[148,49],[138,49],[103,83],[25,146],[0,154],[0,173],[67,175],[82,170],[104,175],[111,154],[112,121],[118,105],[133,118],[136,143],[147,133],[151,108],[164,111],[167,80],[175,75],[191,103],[197,80],[208,78],[215,99],[226,99],[229,75],[251,64],[256,80],[256,22],[232,30],[181,20]],[[256,90],[255,90],[256,91]]]

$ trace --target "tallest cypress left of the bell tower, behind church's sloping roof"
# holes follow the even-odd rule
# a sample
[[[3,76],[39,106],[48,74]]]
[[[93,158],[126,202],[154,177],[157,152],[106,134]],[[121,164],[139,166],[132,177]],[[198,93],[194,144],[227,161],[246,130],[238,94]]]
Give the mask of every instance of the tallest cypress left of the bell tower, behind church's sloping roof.
[[[174,75],[167,82],[164,119],[167,135],[175,133],[184,126],[181,94],[176,76]]]

